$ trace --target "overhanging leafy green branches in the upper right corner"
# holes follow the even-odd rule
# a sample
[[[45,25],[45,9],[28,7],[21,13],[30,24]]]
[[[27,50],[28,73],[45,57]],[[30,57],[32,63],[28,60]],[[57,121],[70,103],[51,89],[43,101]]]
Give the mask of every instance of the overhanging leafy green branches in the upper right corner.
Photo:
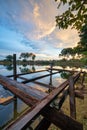
[[[56,25],[67,29],[69,26],[80,30],[87,23],[87,0],[55,0],[58,1],[58,9],[67,5],[68,9],[56,16]]]

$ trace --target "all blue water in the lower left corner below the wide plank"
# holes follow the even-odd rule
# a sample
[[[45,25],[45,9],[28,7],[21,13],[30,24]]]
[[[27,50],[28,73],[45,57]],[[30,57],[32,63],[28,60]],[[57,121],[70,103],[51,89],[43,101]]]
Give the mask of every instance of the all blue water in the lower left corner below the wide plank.
[[[8,100],[10,97],[12,99]],[[28,108],[20,99],[15,98],[14,100],[13,97],[14,95],[10,91],[0,85],[0,101],[5,99],[0,103],[0,130]]]

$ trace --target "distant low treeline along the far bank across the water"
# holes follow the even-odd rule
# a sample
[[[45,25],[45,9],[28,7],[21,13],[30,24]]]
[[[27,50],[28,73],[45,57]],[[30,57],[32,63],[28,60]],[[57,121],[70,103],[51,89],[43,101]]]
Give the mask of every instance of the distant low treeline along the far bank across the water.
[[[1,65],[10,65],[13,64],[13,62],[8,62],[8,61],[0,61]],[[82,61],[79,59],[70,59],[70,60],[66,60],[66,59],[62,59],[62,60],[35,60],[35,61],[21,61],[21,60],[17,60],[17,65],[53,65],[53,66],[61,66],[61,67],[66,67],[66,66],[70,66],[70,67],[85,67],[87,66],[87,62],[86,61]]]

